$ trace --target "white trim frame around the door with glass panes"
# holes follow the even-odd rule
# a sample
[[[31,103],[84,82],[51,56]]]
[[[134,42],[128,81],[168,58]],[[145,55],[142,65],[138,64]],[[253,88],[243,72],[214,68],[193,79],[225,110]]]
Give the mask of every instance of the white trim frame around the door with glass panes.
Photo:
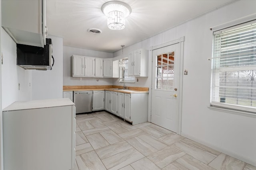
[[[149,51],[149,56],[151,56],[151,64],[149,63],[149,67],[151,67],[151,72],[150,73],[150,78],[151,78],[151,84],[149,88],[149,93],[150,93],[150,98],[149,98],[149,105],[148,105],[148,110],[149,110],[149,116],[148,116],[148,121],[151,122],[151,117],[152,117],[152,86],[153,86],[153,80],[154,78],[152,77],[153,75],[153,51],[156,49],[160,49],[169,45],[174,45],[179,43],[180,44],[180,77],[179,77],[179,99],[178,99],[178,131],[177,134],[181,134],[181,125],[182,125],[182,87],[183,87],[183,56],[184,56],[184,40],[185,37],[180,37],[179,39],[175,39],[174,41],[170,41],[161,45],[153,46],[150,47]]]

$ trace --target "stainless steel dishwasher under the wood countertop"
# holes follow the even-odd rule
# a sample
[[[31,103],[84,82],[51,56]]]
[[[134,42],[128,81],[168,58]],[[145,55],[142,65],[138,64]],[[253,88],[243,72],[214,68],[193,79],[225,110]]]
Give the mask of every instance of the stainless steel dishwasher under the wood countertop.
[[[92,91],[74,91],[76,113],[92,111]]]

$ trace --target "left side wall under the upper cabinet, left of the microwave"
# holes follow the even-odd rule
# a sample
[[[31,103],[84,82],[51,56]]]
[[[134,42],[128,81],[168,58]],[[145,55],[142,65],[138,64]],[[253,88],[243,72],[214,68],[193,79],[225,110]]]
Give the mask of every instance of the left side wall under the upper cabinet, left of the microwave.
[[[3,54],[2,74],[2,108],[13,102],[30,100],[31,71],[16,65],[16,43],[1,27],[1,50]],[[20,84],[20,90],[19,85]]]

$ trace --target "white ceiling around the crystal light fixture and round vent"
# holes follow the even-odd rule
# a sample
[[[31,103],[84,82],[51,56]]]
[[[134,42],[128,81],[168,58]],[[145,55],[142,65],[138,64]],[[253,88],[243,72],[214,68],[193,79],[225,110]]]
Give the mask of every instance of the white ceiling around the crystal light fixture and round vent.
[[[234,0],[122,0],[132,13],[122,30],[107,27],[101,6],[108,0],[47,0],[48,34],[63,37],[63,45],[115,52],[191,20]],[[87,29],[97,28],[95,35]]]

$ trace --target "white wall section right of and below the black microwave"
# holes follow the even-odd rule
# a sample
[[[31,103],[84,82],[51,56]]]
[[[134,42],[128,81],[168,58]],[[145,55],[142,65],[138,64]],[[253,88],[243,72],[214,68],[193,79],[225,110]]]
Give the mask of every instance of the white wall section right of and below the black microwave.
[[[62,98],[63,91],[63,38],[52,39],[52,70],[32,70],[32,100]]]

